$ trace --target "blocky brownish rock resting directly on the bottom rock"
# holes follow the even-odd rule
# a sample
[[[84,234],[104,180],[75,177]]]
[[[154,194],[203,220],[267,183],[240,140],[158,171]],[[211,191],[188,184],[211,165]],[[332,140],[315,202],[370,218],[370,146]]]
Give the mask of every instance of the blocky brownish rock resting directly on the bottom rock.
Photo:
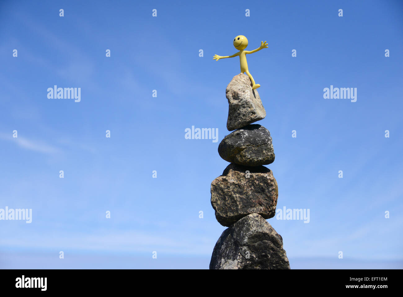
[[[277,182],[273,172],[264,166],[231,163],[222,176],[212,181],[210,192],[211,205],[222,226],[231,226],[251,213],[258,213],[265,219],[276,213]]]

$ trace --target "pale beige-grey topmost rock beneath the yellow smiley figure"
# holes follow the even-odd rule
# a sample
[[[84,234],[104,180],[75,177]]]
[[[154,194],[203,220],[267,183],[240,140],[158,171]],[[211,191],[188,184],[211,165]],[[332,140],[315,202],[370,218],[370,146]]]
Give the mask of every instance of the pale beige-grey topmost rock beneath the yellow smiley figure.
[[[266,117],[266,111],[257,90],[246,74],[235,75],[226,88],[228,99],[227,129],[232,131]]]

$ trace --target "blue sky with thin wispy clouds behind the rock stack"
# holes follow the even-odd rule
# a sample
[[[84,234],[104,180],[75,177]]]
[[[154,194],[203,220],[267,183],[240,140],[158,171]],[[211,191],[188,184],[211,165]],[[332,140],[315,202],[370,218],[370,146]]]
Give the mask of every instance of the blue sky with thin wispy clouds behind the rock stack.
[[[210,204],[228,165],[217,152],[230,133],[225,88],[239,73],[239,58],[212,57],[245,35],[247,50],[268,42],[247,60],[273,139],[277,208],[310,209],[308,224],[268,220],[291,268],[403,268],[402,9],[2,1],[0,208],[33,218],[0,221],[0,266],[208,268],[225,229]],[[48,99],[54,85],[81,88],[81,101]],[[330,85],[357,88],[357,102],[324,99]],[[218,142],[185,139],[192,125],[218,128]]]

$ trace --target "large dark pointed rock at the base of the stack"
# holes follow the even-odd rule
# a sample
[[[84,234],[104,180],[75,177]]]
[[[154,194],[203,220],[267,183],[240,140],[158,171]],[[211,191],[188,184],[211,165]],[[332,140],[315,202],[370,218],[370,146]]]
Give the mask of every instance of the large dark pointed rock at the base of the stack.
[[[262,216],[252,213],[222,232],[210,269],[290,269],[283,238]]]

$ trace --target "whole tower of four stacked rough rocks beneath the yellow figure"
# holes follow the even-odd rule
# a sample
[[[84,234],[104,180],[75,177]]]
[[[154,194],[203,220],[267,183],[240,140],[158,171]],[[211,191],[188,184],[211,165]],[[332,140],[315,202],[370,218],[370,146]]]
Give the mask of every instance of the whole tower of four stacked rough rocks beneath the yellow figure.
[[[211,183],[211,205],[216,219],[229,227],[218,239],[210,269],[290,269],[283,238],[266,221],[274,217],[277,182],[267,167],[274,161],[270,132],[252,124],[266,117],[257,90],[240,73],[226,88],[227,129],[233,131],[218,146],[230,162]]]

